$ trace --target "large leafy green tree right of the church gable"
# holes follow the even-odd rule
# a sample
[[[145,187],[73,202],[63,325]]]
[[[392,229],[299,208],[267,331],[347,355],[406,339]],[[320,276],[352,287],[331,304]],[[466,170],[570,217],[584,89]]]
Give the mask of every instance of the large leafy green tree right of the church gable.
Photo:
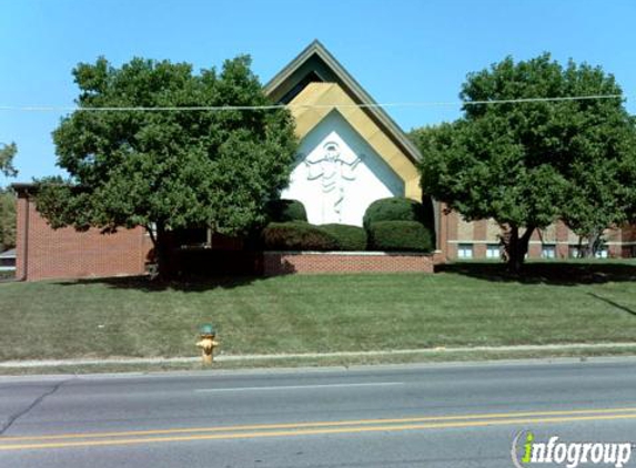
[[[564,99],[595,95],[622,90],[600,68],[562,67],[547,53],[470,73],[463,118],[412,133],[423,190],[468,221],[498,222],[514,271],[533,232],[558,217],[584,231],[626,220],[636,167],[623,99]],[[590,196],[594,187],[602,193]]]

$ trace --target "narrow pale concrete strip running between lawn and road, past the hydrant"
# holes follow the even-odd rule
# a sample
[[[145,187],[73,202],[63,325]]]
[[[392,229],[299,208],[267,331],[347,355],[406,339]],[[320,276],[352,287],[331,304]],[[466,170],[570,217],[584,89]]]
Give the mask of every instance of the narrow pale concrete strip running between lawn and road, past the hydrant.
[[[558,352],[558,350],[603,350],[629,348],[636,353],[636,343],[573,343],[564,345],[521,345],[521,346],[473,346],[473,347],[436,347],[421,349],[395,349],[395,350],[370,350],[370,352],[336,352],[336,353],[284,353],[284,354],[246,354],[246,355],[219,355],[214,357],[219,363],[233,362],[259,362],[276,359],[317,359],[339,357],[377,357],[377,356],[406,356],[431,354],[455,354],[478,352]],[[49,360],[4,360],[0,368],[31,368],[31,367],[58,367],[58,366],[99,366],[112,364],[188,364],[198,363],[200,357],[122,357],[102,359],[49,359]]]

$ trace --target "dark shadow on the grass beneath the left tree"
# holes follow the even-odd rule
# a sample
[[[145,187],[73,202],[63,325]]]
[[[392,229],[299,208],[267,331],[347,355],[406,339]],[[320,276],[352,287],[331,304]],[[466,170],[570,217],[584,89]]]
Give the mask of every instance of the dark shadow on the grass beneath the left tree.
[[[261,276],[191,276],[183,279],[159,281],[149,276],[125,276],[110,278],[90,278],[60,281],[61,286],[83,286],[91,284],[102,284],[117,289],[138,289],[145,293],[160,291],[180,291],[186,293],[202,293],[211,289],[233,289],[245,286],[254,282],[264,279]]]

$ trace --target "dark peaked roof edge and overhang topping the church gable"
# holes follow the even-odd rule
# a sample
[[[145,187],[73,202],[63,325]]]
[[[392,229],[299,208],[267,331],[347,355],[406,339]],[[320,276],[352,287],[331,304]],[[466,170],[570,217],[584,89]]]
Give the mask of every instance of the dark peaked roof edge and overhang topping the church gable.
[[[406,156],[416,162],[420,152],[402,129],[345,70],[317,39],[313,40],[295,59],[265,84],[265,93],[277,103],[289,103],[309,83],[337,83],[364,112],[397,144]],[[371,106],[370,106],[371,104]]]

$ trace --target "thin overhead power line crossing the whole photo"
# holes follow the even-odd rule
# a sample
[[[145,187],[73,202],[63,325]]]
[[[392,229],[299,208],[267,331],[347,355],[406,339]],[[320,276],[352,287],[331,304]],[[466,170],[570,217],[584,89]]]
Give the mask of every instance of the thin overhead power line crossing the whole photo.
[[[79,108],[79,106],[53,106],[53,105],[0,105],[0,111],[18,112],[201,112],[201,111],[256,111],[275,109],[378,109],[378,108],[434,108],[434,106],[466,106],[466,105],[492,105],[516,104],[532,102],[564,102],[564,101],[590,101],[606,99],[627,99],[622,94],[594,94],[561,98],[521,98],[498,99],[485,101],[441,101],[441,102],[390,102],[369,104],[270,104],[270,105],[184,105],[184,106],[107,106],[107,108]]]

